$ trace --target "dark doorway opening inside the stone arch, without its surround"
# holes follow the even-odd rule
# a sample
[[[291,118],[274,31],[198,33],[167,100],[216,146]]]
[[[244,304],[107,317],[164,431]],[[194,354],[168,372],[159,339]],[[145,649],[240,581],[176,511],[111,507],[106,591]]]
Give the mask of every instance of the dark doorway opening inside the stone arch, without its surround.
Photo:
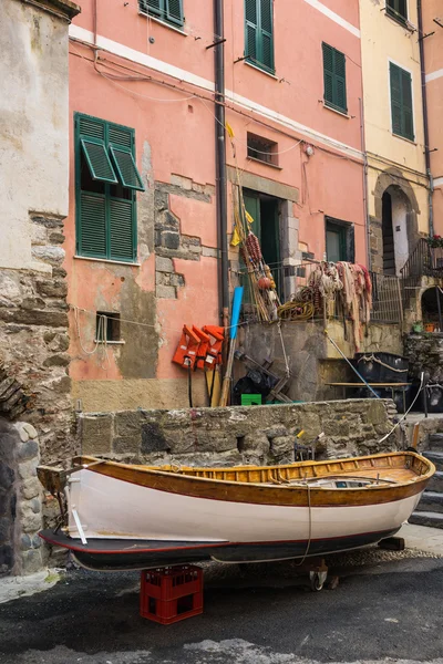
[[[383,274],[400,274],[410,255],[408,214],[410,201],[391,185],[382,196]]]

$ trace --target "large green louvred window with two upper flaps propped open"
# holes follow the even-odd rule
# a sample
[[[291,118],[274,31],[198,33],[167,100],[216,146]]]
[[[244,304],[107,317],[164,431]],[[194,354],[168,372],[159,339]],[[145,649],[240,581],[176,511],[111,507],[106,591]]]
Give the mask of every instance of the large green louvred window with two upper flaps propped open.
[[[134,129],[75,114],[76,253],[134,262],[136,195]]]

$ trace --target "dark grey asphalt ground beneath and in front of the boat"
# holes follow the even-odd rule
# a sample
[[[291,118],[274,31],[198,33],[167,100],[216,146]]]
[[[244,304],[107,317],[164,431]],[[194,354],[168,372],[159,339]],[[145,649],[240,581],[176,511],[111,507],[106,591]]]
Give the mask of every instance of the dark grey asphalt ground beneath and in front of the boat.
[[[209,574],[204,614],[171,626],[140,618],[136,573],[71,571],[0,604],[0,663],[443,664],[443,559],[350,567],[321,592],[296,571]]]

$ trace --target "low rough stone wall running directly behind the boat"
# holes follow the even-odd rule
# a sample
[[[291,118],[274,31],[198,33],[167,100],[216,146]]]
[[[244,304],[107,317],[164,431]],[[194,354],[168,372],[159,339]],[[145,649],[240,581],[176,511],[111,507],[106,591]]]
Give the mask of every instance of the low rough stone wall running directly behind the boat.
[[[275,406],[231,406],[177,411],[122,411],[79,416],[79,447],[130,463],[189,465],[278,464],[293,460],[296,434],[303,443],[323,432],[323,457],[363,455],[393,449],[395,407],[390,401]]]

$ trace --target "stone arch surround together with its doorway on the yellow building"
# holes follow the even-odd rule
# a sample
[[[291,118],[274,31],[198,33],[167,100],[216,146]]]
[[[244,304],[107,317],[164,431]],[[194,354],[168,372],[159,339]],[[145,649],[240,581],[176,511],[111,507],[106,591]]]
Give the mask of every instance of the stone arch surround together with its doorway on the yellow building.
[[[420,238],[419,204],[410,183],[394,167],[379,175],[373,196],[375,214],[370,217],[372,269],[399,274]]]

